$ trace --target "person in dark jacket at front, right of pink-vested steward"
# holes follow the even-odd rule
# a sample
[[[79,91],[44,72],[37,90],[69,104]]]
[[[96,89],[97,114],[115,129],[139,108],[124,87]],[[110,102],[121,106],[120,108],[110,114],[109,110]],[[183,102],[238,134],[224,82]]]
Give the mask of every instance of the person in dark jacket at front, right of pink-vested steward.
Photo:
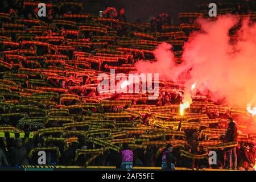
[[[173,146],[167,144],[166,148],[162,152],[162,170],[174,170],[176,163],[176,158],[172,155]]]

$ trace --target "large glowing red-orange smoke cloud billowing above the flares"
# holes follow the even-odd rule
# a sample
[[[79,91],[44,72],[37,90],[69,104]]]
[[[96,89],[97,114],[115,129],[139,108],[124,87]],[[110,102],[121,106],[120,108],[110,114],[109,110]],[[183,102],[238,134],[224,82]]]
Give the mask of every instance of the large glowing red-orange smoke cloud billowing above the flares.
[[[184,45],[183,63],[176,65],[171,46],[162,43],[155,49],[155,63],[139,61],[139,72],[159,73],[160,78],[179,82],[186,78],[185,87],[191,85],[201,94],[210,91],[214,101],[225,98],[228,105],[256,104],[256,24],[249,19],[239,22],[236,15],[218,16],[216,20],[197,19],[200,31],[189,35]],[[234,27],[236,38],[230,40]],[[171,63],[170,63],[171,62]]]

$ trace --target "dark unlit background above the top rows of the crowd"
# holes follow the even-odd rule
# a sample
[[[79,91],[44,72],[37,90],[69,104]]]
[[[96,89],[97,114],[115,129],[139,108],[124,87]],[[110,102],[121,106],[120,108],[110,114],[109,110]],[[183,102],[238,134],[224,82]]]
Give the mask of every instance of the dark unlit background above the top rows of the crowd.
[[[138,18],[141,22],[149,22],[152,16],[159,13],[169,13],[176,20],[180,12],[198,11],[197,5],[202,3],[218,2],[217,0],[81,0],[85,10],[91,13],[105,10],[106,6],[125,7],[129,22]]]

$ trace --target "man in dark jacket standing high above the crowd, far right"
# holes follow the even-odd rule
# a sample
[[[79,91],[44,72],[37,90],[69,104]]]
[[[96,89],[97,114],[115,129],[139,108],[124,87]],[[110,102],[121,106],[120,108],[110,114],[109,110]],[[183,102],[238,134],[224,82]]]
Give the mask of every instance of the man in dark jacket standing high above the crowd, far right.
[[[236,123],[233,122],[232,118],[228,118],[228,129],[226,130],[226,134],[222,139],[223,143],[227,142],[236,142],[237,141],[237,127]],[[236,147],[228,147],[225,148],[225,154],[226,154],[226,168],[227,169],[237,169],[237,154],[236,154]],[[232,165],[233,164],[233,165]]]

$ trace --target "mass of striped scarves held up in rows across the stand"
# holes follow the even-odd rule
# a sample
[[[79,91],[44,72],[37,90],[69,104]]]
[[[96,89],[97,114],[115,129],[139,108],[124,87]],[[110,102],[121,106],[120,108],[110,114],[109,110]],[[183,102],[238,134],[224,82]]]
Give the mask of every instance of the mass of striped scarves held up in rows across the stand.
[[[27,13],[37,5],[23,1]],[[218,13],[233,13],[222,5]],[[71,6],[72,13],[67,12]],[[47,4],[49,7],[62,18],[22,19],[0,13],[0,138],[7,138],[7,154],[18,138],[34,142],[28,151],[32,165],[40,150],[61,158],[71,146],[76,149],[72,165],[84,166],[96,165],[97,158],[109,150],[119,152],[122,143],[129,143],[133,150],[156,146],[157,155],[171,143],[180,149],[180,155],[198,160],[208,158],[207,150],[237,146],[237,142],[222,143],[219,138],[225,129],[218,127],[221,118],[209,115],[218,111],[224,116],[227,110],[233,115],[247,114],[246,110],[218,106],[207,96],[197,95],[181,116],[183,85],[160,80],[161,94],[154,102],[148,100],[148,93],[97,92],[100,73],[109,74],[110,69],[126,75],[135,72],[134,63],[139,59],[155,61],[152,51],[162,42],[174,47],[175,60],[181,63],[182,46],[191,31],[200,29],[193,21],[205,15],[203,8],[200,13],[180,13],[180,24],[151,32],[149,23],[86,14],[77,2]],[[255,13],[250,17],[255,20]],[[130,31],[119,36],[123,32],[120,27]],[[208,112],[199,113],[202,107]],[[204,154],[185,151],[189,132],[199,135],[197,146]],[[40,147],[38,140],[43,141]],[[240,133],[238,142],[255,144],[255,137]]]

